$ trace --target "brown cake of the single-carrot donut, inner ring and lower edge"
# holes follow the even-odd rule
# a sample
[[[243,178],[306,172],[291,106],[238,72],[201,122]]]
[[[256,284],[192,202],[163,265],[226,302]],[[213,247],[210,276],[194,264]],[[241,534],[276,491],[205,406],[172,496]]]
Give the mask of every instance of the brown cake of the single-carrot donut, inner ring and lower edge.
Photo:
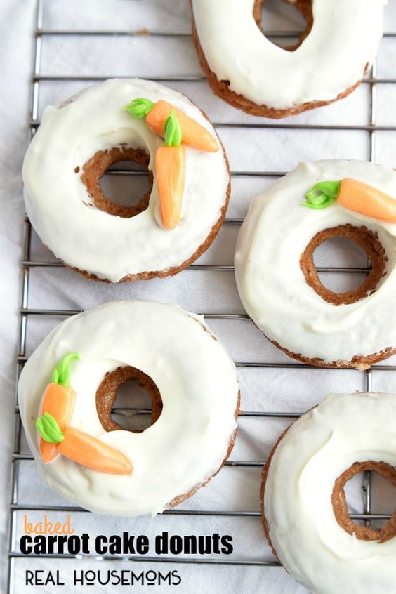
[[[362,247],[371,261],[371,271],[369,272],[367,279],[355,291],[334,293],[333,291],[330,291],[330,289],[326,289],[319,279],[313,261],[313,253],[322,242],[326,241],[326,239],[331,239],[331,237],[347,237]],[[378,282],[383,275],[385,275],[385,265],[387,260],[388,258],[385,250],[378,241],[378,235],[376,233],[364,226],[355,227],[354,225],[338,225],[337,227],[330,227],[320,231],[311,239],[301,255],[300,267],[307,284],[311,286],[312,289],[324,299],[324,301],[333,303],[336,307],[343,303],[355,303],[355,301],[359,301],[359,299],[374,293]],[[270,340],[270,338],[268,338],[268,340]],[[383,359],[388,359],[388,357],[392,357],[392,355],[396,354],[396,348],[389,346],[380,352],[371,353],[371,355],[355,355],[355,357],[352,357],[349,361],[337,360],[324,362],[324,360],[319,359],[319,357],[310,359],[309,357],[304,357],[300,353],[291,352],[289,349],[284,348],[277,343],[277,341],[270,340],[270,342],[292,359],[296,359],[297,361],[301,361],[308,365],[314,365],[315,367],[355,367],[355,369],[364,371],[364,369],[369,369],[371,365],[383,361]]]

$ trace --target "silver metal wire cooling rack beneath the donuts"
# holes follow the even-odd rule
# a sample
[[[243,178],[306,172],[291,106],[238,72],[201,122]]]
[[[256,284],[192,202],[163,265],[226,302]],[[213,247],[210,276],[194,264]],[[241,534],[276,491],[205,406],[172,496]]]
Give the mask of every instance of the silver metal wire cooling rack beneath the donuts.
[[[70,30],[70,29],[48,29],[44,27],[44,9],[45,9],[46,0],[37,0],[37,13],[36,13],[36,21],[35,21],[35,28],[34,28],[34,65],[33,65],[33,72],[32,72],[32,95],[31,95],[31,104],[29,109],[29,140],[32,138],[34,131],[37,129],[39,125],[39,89],[41,88],[41,84],[44,81],[102,81],[112,76],[110,72],[107,72],[103,76],[99,76],[98,74],[92,75],[64,75],[64,74],[42,74],[41,73],[41,46],[43,39],[46,37],[55,37],[55,36],[63,36],[63,37],[73,37],[75,43],[79,42],[79,39],[82,37],[101,37],[105,41],[109,36],[119,36],[119,37],[128,37],[133,38],[138,35],[141,35],[142,31],[129,31],[129,30]],[[190,37],[190,32],[167,32],[166,30],[155,30],[144,32],[145,34],[149,34],[152,37]],[[291,38],[298,36],[298,32],[290,32],[290,31],[274,31],[268,33],[268,37],[272,38]],[[396,39],[396,32],[391,32],[385,34],[385,37],[391,37]],[[150,77],[150,79],[154,79],[156,81],[164,81],[166,84],[172,82],[194,82],[194,81],[204,81],[205,77],[203,76],[161,76],[161,77]],[[284,121],[274,121],[271,123],[253,123],[253,124],[235,124],[232,122],[227,123],[219,123],[215,124],[217,128],[272,128],[272,129],[290,129],[290,130],[334,130],[334,131],[363,131],[369,135],[369,147],[370,147],[370,159],[371,161],[375,161],[376,159],[376,133],[378,131],[396,131],[396,126],[379,126],[377,124],[377,109],[376,109],[376,95],[377,95],[377,88],[378,85],[390,85],[396,84],[395,78],[380,78],[376,76],[376,66],[372,67],[371,73],[369,77],[364,81],[365,85],[369,85],[370,93],[370,108],[369,108],[369,121],[367,124],[363,125],[319,125],[319,124],[294,124],[293,121],[290,119],[286,119]],[[109,171],[107,172],[110,175],[125,175],[125,176],[138,176],[141,173],[138,171],[127,171],[127,170],[118,170],[118,171]],[[284,171],[233,171],[232,178],[244,178],[244,177],[266,177],[266,178],[278,178],[279,176],[284,175]],[[226,218],[224,224],[225,225],[240,225],[242,223],[242,219],[240,218]],[[38,260],[31,258],[31,251],[32,251],[32,227],[29,223],[29,220],[25,219],[25,240],[24,240],[24,249],[23,249],[23,262],[22,262],[22,296],[21,296],[21,303],[20,303],[20,328],[19,328],[19,338],[18,338],[18,364],[17,364],[17,380],[19,378],[20,371],[22,370],[25,361],[27,360],[27,326],[29,324],[29,319],[34,316],[43,317],[67,317],[78,313],[78,311],[74,310],[62,310],[62,309],[46,309],[46,308],[29,308],[29,275],[32,268],[60,268],[62,267],[62,263],[57,260],[54,261],[46,261],[46,260]],[[191,269],[194,270],[220,270],[220,271],[228,271],[232,274],[234,270],[232,265],[211,265],[211,264],[193,264]],[[355,272],[367,272],[369,270],[369,265],[367,267],[322,267],[317,268],[318,272],[347,272],[347,273],[355,273]],[[226,319],[232,320],[237,319],[246,319],[249,320],[247,315],[243,314],[217,314],[217,313],[208,313],[205,315],[206,319]],[[251,323],[251,322],[246,322]],[[313,369],[309,365],[295,363],[291,360],[287,360],[286,362],[281,363],[271,363],[271,362],[236,362],[236,366],[238,368],[280,368],[289,370],[293,369]],[[316,368],[315,368],[316,369]],[[381,364],[381,365],[374,365],[371,369],[364,371],[365,375],[365,387],[367,391],[371,390],[372,385],[372,377],[373,374],[376,373],[377,370],[381,369],[381,371],[396,371],[396,365],[393,364]],[[331,370],[327,370],[331,373]],[[133,409],[119,409],[119,413],[126,413]],[[140,410],[143,414],[150,414],[149,410]],[[293,419],[299,416],[296,412],[287,412],[287,411],[242,411],[242,417],[259,417],[259,418],[286,418],[286,419]],[[28,462],[33,463],[32,456],[30,454],[22,453],[21,451],[21,437],[22,437],[22,425],[20,422],[20,414],[18,409],[18,395],[15,393],[15,426],[14,426],[14,439],[13,439],[13,456],[12,456],[12,472],[11,472],[11,505],[10,505],[10,522],[9,522],[9,537],[8,537],[8,594],[15,593],[15,562],[20,557],[24,557],[21,553],[18,552],[17,548],[17,536],[18,536],[18,527],[17,527],[17,513],[18,512],[27,512],[27,511],[40,511],[40,512],[53,512],[53,511],[84,511],[81,508],[75,508],[74,506],[47,506],[47,505],[34,505],[29,503],[20,503],[18,497],[18,465],[21,462]],[[237,467],[262,467],[263,462],[260,461],[228,461],[226,463],[227,466],[231,466],[234,468]],[[371,475],[369,472],[365,474],[364,477],[364,513],[362,514],[354,514],[351,517],[355,520],[364,521],[365,524],[369,525],[373,520],[388,520],[390,515],[388,514],[374,514],[371,513]],[[168,510],[164,513],[164,515],[196,515],[196,516],[238,516],[238,517],[253,517],[257,518],[259,521],[260,513],[254,511],[217,511],[213,509],[205,509],[205,510]],[[43,557],[43,555],[29,555],[29,558],[34,557]],[[47,555],[51,557],[51,555]],[[55,555],[55,557],[60,560],[63,558],[74,558],[73,555]],[[101,557],[106,558],[104,557]],[[113,557],[109,557],[113,558]],[[125,557],[124,557],[125,558]],[[171,563],[204,563],[210,565],[241,565],[241,566],[260,566],[265,569],[268,566],[277,566],[279,565],[275,560],[273,561],[265,561],[265,560],[223,560],[223,559],[202,559],[202,558],[180,558],[180,557],[139,557],[133,556],[128,557],[129,560],[133,561],[140,561],[140,562],[150,562],[150,563],[157,563],[157,562],[171,562]]]

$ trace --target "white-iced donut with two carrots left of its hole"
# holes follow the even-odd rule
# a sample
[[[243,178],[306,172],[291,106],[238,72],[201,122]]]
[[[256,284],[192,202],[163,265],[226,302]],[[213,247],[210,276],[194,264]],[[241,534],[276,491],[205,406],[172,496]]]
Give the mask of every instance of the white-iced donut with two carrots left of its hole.
[[[110,418],[131,379],[153,402],[140,433]],[[41,475],[97,513],[178,505],[218,473],[235,442],[235,365],[203,318],[177,305],[119,301],[68,318],[29,357],[18,391]]]

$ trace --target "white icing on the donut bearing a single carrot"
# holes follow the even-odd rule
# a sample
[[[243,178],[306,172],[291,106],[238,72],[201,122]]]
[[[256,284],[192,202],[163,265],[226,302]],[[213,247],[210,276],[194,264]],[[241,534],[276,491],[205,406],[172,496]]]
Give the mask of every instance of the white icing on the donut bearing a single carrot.
[[[235,275],[244,308],[272,341],[305,357],[349,361],[396,346],[396,225],[334,203],[301,206],[319,180],[355,178],[396,198],[396,173],[360,161],[317,161],[298,167],[249,207],[239,232]],[[349,305],[332,305],[308,286],[300,257],[317,232],[350,223],[378,233],[388,262],[376,291]]]

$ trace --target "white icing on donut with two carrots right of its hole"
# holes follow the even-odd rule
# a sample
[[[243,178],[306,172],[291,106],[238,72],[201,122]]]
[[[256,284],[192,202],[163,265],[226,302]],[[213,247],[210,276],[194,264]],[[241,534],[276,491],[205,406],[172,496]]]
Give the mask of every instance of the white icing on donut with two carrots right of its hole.
[[[23,165],[27,214],[44,244],[65,263],[113,282],[179,267],[190,258],[220,218],[229,182],[221,148],[208,153],[186,147],[182,218],[172,231],[158,225],[155,152],[163,140],[124,110],[142,96],[167,100],[216,137],[206,117],[181,93],[151,81],[110,79],[71,103],[47,107]],[[154,173],[148,209],[131,218],[95,208],[81,182],[86,161],[122,143],[147,150]]]

